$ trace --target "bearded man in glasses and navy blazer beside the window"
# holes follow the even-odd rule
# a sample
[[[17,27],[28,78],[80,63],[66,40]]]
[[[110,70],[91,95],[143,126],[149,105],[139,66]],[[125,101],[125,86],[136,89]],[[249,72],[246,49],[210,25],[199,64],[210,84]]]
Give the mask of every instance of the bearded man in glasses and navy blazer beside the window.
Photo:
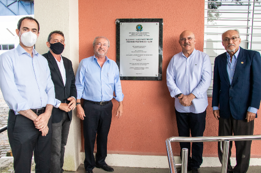
[[[237,29],[222,34],[226,52],[215,58],[212,107],[219,121],[218,135],[252,135],[254,118],[261,99],[260,53],[239,46]],[[236,165],[232,168],[229,146],[227,172],[246,172],[249,166],[251,140],[235,141]],[[218,156],[222,162],[222,152]]]

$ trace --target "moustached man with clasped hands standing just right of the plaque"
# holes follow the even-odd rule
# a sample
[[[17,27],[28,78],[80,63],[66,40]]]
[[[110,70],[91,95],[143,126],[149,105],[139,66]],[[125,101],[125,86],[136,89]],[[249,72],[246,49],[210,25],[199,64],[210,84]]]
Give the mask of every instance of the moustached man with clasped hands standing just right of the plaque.
[[[195,49],[196,38],[192,31],[180,34],[182,51],[175,54],[167,68],[167,85],[175,97],[175,111],[179,136],[203,136],[208,105],[207,89],[211,82],[212,70],[209,56]],[[180,142],[188,148],[190,142]],[[188,170],[198,173],[202,163],[203,142],[192,143],[192,157],[188,159]]]

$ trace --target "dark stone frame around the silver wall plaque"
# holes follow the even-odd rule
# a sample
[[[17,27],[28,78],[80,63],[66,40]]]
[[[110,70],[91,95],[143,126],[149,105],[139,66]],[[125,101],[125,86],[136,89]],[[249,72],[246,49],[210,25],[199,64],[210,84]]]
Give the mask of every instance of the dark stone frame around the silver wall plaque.
[[[117,18],[116,23],[116,63],[120,71],[120,22],[159,22],[159,71],[158,76],[120,76],[120,80],[162,80],[163,61],[163,18]]]

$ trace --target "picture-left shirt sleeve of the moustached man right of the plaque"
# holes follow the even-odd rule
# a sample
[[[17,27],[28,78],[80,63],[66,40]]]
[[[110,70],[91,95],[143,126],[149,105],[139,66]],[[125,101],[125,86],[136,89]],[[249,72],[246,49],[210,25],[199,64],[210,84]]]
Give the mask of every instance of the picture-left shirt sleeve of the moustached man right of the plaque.
[[[167,68],[167,86],[170,91],[170,95],[172,97],[175,97],[175,95],[181,93],[181,90],[178,88],[176,82],[175,82],[175,73],[173,69],[173,63],[174,63],[174,57],[170,60],[170,63]]]

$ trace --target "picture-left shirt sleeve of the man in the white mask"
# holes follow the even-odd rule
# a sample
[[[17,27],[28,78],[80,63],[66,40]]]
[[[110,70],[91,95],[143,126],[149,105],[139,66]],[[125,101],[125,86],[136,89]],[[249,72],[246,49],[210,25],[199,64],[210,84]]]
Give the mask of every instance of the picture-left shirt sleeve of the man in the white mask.
[[[8,106],[16,112],[30,109],[28,102],[21,96],[16,83],[12,58],[0,55],[0,87]]]

